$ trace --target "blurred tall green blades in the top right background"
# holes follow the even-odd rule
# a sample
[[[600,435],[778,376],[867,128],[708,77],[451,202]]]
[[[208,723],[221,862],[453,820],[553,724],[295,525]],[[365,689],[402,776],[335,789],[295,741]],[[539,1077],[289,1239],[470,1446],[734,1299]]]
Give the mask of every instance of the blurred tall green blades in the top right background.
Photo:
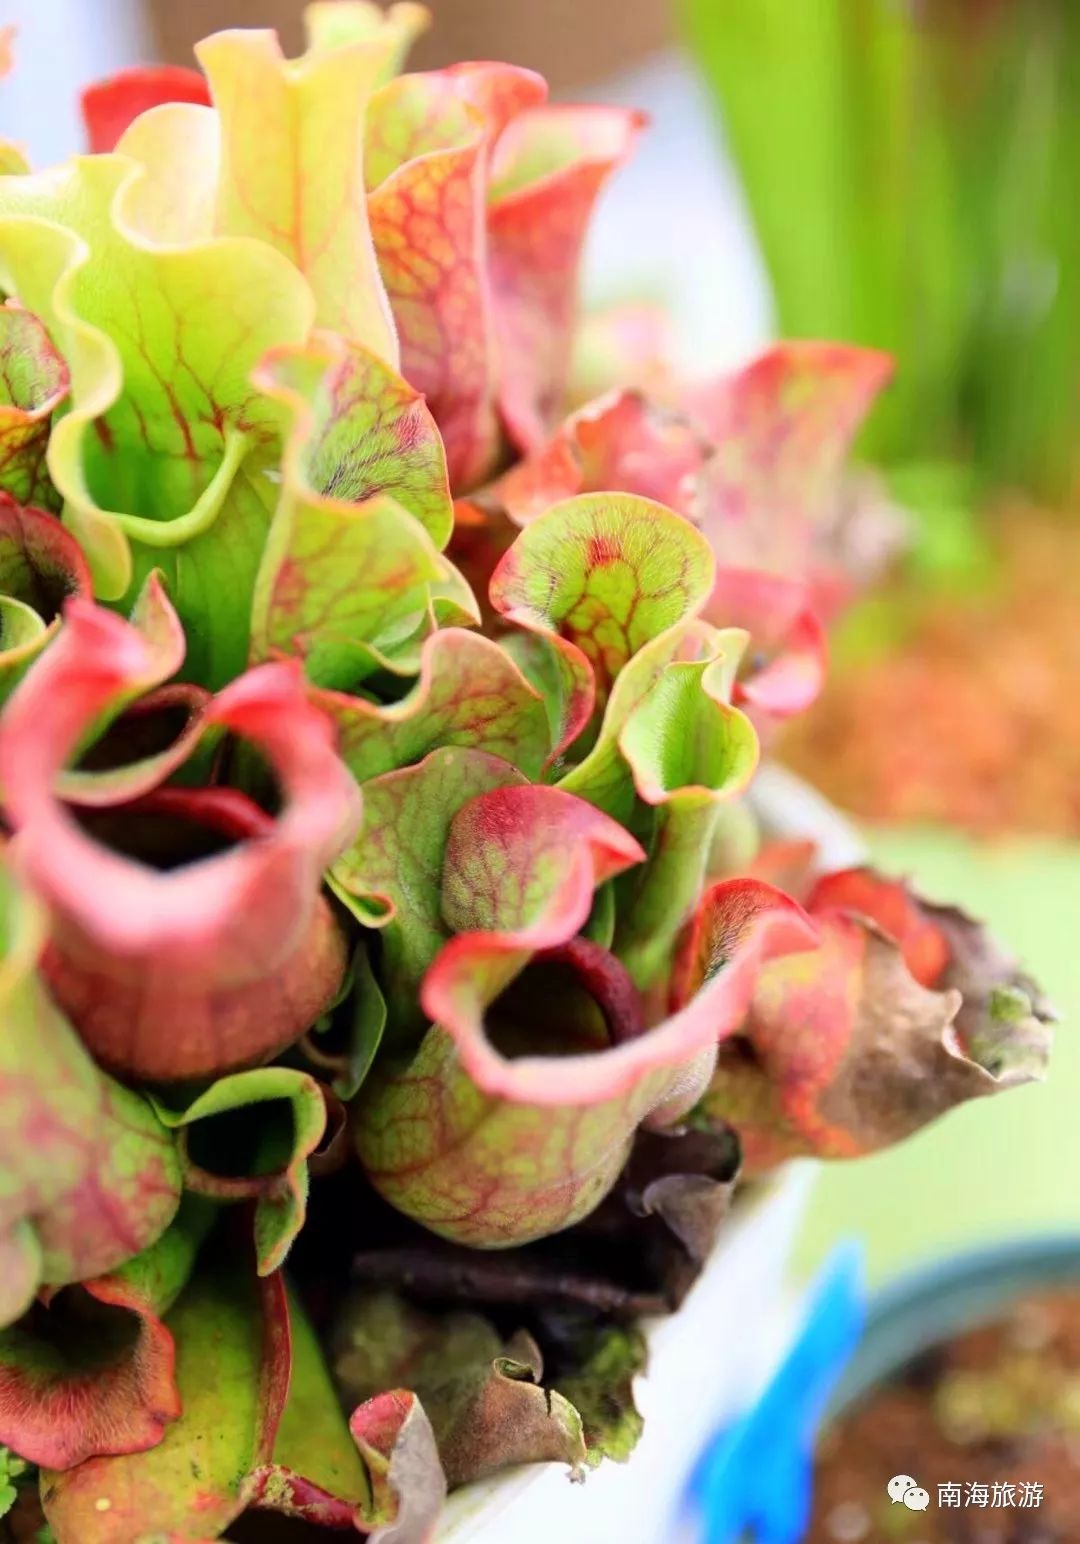
[[[1080,5],[683,11],[779,334],[896,358],[867,452],[924,488],[964,466],[973,496],[1063,500],[1080,422]]]

